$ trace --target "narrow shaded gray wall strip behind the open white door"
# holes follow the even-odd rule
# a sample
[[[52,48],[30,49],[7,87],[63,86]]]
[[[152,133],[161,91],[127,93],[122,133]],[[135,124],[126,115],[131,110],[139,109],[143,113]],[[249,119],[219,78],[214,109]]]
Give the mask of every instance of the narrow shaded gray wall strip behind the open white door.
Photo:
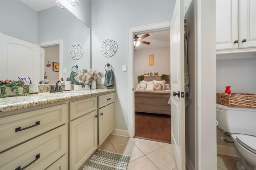
[[[185,19],[188,24],[188,72],[190,101],[185,110],[186,153],[194,168],[196,165],[196,56],[195,56],[195,25],[194,2],[187,8]],[[186,157],[188,162],[188,157]]]

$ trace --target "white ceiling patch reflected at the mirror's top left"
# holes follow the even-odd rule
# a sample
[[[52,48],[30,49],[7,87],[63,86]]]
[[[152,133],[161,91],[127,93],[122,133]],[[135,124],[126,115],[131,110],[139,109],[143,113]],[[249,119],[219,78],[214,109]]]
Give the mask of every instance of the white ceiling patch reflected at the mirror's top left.
[[[20,0],[36,12],[56,6],[56,0]]]

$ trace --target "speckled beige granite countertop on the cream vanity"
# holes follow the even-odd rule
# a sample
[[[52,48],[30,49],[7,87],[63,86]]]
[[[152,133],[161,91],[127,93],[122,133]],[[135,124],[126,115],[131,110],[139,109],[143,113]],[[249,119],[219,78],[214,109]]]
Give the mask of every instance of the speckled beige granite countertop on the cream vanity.
[[[39,93],[30,96],[16,96],[0,99],[0,112],[24,109],[71,99],[84,98],[98,94],[115,92],[115,89],[76,90],[59,93]]]

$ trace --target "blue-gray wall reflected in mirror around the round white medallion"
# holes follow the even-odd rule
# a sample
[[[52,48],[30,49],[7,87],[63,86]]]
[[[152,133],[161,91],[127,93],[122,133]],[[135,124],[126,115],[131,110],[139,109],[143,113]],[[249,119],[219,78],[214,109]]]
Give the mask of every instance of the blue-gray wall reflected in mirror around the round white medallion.
[[[67,68],[64,79],[69,77],[71,68],[90,68],[90,29],[67,9],[58,6],[38,12],[38,43],[63,39],[63,66]],[[80,43],[84,47],[84,55],[73,60],[69,55],[70,46]]]

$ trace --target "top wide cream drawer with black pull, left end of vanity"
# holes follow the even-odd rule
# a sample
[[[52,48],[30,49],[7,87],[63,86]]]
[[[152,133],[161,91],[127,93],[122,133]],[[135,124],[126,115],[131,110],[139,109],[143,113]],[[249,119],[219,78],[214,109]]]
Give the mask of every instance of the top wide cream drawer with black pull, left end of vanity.
[[[67,111],[68,105],[62,104],[1,118],[0,151],[66,123]]]

